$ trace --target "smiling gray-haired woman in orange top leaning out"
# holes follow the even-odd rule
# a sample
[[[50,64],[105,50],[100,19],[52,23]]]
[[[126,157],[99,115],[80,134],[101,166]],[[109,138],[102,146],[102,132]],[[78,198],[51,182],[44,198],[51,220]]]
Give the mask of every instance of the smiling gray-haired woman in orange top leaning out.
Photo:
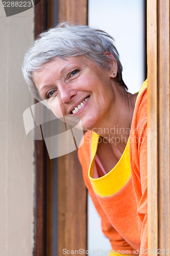
[[[88,130],[79,159],[111,255],[147,254],[146,82],[127,92],[113,38],[67,23],[35,40],[22,71],[35,98]]]

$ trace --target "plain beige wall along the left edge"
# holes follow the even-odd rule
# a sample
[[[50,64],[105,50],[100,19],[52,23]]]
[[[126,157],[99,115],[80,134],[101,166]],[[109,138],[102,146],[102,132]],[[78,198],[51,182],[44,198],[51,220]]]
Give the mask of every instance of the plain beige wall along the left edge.
[[[0,255],[30,256],[33,250],[34,141],[22,113],[33,104],[21,75],[23,53],[33,41],[34,9],[5,16],[0,3]]]

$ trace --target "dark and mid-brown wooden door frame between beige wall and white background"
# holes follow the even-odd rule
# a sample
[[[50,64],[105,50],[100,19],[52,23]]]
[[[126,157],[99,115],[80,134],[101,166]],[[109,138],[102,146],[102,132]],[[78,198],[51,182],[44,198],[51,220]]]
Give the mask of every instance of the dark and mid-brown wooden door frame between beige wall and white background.
[[[54,12],[56,7],[57,14]],[[79,11],[77,11],[79,10]],[[55,16],[54,16],[55,15]],[[35,38],[64,20],[87,24],[87,0],[41,0],[35,6]],[[56,25],[56,24],[55,24]],[[58,172],[58,255],[64,248],[87,249],[87,190],[77,151],[50,160],[44,141],[35,141],[35,246],[34,256],[50,256],[52,221],[52,172]],[[48,208],[48,211],[47,211]]]

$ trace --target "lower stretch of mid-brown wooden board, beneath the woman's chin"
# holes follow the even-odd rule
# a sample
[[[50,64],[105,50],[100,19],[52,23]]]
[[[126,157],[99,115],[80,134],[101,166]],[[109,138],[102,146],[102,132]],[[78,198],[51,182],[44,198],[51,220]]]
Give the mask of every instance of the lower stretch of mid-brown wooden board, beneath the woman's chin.
[[[86,249],[87,200],[77,151],[58,158],[58,255]]]

